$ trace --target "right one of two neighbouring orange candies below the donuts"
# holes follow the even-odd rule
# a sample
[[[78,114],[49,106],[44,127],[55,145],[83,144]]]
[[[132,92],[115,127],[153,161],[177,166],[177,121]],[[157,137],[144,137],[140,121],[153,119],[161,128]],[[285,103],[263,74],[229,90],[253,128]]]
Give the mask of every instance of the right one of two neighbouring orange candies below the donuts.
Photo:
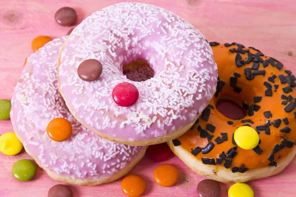
[[[171,164],[162,164],[154,170],[154,180],[158,185],[170,187],[175,185],[179,179],[178,169]]]

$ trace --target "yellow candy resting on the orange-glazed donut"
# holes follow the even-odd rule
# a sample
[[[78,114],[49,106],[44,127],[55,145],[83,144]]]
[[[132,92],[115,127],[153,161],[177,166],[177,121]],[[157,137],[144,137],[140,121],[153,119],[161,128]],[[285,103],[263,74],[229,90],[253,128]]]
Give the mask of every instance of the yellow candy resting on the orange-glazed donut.
[[[234,132],[234,141],[242,149],[250,150],[259,143],[259,135],[252,127],[239,127]]]

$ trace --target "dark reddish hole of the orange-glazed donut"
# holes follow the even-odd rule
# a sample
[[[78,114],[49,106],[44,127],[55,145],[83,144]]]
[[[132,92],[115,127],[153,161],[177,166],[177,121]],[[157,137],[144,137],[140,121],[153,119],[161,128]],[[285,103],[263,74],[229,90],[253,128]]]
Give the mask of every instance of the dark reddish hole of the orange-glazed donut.
[[[247,116],[247,110],[242,105],[241,101],[234,98],[221,98],[216,102],[217,110],[232,120],[243,119]]]

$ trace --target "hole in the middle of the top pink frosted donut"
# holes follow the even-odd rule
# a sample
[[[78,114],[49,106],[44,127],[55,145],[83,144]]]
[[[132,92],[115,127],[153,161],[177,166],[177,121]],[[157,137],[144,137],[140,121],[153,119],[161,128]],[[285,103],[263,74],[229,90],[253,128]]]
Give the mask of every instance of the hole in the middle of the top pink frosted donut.
[[[131,81],[146,81],[154,76],[151,66],[142,59],[135,60],[122,67],[122,73]]]

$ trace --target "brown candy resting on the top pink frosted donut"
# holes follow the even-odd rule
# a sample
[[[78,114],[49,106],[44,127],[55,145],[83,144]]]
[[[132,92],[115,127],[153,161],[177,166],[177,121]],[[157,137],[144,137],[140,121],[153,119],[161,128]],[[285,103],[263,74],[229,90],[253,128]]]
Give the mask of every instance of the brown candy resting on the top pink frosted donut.
[[[83,81],[97,80],[102,74],[102,71],[102,64],[98,60],[94,59],[83,61],[77,69],[78,76]]]

